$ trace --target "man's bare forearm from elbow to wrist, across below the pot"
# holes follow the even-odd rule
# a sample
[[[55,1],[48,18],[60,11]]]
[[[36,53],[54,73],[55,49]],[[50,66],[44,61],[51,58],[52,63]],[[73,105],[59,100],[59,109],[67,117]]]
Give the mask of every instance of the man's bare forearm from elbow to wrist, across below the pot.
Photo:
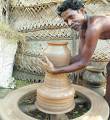
[[[78,61],[76,63],[73,63],[69,66],[57,68],[58,73],[69,73],[69,72],[75,72],[78,70],[81,70],[86,67],[87,64],[83,63],[82,61]]]

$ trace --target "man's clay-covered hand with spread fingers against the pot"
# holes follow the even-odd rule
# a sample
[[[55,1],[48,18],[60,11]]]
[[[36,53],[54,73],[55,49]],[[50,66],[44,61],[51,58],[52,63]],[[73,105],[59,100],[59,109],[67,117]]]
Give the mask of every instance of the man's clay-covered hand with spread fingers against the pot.
[[[59,73],[58,69],[54,67],[53,63],[48,59],[48,57],[45,56],[44,58],[45,58],[45,62],[38,58],[41,68],[43,68],[44,71],[47,71],[49,73],[53,73],[53,74]]]

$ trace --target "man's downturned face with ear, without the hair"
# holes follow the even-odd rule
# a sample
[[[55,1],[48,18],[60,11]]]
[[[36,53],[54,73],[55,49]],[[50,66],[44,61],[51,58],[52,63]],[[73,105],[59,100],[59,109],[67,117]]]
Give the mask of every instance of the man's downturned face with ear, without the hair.
[[[64,22],[68,24],[69,27],[73,28],[74,30],[78,31],[83,23],[84,14],[81,10],[72,10],[67,9],[61,14]]]

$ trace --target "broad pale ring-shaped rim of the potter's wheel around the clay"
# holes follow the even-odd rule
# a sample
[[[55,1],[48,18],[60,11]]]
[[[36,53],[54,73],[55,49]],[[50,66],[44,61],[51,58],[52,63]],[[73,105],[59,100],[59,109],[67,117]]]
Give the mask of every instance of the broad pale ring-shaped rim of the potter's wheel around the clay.
[[[28,98],[28,96],[36,93],[36,89],[39,85],[41,84],[33,84],[17,89],[8,94],[3,100],[0,100],[1,120],[38,120],[25,114],[19,107],[19,104],[22,98],[25,98],[26,96]],[[90,89],[78,85],[73,85],[73,87],[78,94],[86,97],[91,103],[91,107],[88,112],[73,120],[108,120],[109,107],[103,97]],[[33,109],[36,108],[33,106]]]

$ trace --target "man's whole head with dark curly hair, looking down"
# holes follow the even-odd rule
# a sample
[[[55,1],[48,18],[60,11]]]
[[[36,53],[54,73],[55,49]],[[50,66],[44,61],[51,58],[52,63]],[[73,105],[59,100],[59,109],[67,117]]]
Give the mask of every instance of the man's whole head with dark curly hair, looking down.
[[[68,26],[79,30],[85,16],[82,0],[65,0],[58,6],[57,11],[58,15],[64,19]]]

